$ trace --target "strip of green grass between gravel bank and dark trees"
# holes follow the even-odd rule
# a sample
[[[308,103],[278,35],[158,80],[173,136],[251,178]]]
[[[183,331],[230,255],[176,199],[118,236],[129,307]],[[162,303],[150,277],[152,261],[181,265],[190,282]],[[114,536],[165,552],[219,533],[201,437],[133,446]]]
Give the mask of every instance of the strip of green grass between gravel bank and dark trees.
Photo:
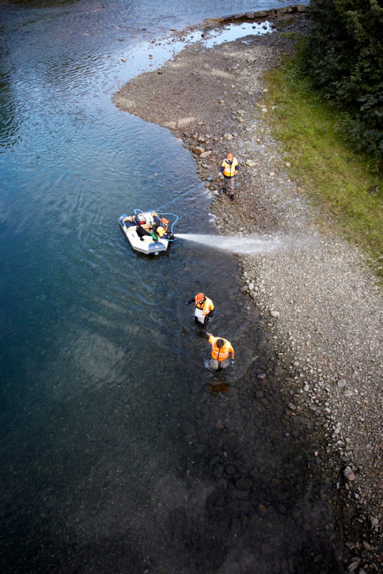
[[[289,176],[322,207],[319,223],[361,245],[383,278],[382,174],[347,146],[339,114],[301,79],[298,64],[289,58],[264,75],[264,118],[288,154]]]

